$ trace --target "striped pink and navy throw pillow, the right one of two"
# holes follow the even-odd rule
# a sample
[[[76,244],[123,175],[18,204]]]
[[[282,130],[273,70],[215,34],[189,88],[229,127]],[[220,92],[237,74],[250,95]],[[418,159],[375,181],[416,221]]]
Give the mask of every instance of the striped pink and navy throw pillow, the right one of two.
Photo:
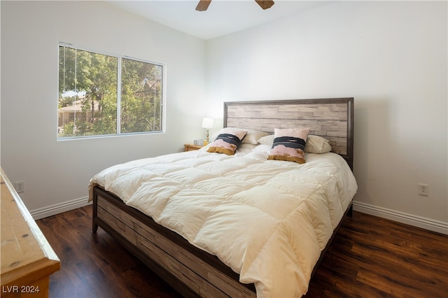
[[[305,163],[304,148],[309,128],[274,129],[274,143],[267,159],[285,160],[287,162]]]

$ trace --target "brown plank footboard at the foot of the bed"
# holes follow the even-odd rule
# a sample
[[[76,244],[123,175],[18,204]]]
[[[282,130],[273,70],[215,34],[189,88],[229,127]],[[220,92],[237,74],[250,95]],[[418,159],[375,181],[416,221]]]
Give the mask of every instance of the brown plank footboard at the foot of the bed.
[[[94,187],[93,232],[102,227],[185,297],[256,297],[255,286],[137,209]]]

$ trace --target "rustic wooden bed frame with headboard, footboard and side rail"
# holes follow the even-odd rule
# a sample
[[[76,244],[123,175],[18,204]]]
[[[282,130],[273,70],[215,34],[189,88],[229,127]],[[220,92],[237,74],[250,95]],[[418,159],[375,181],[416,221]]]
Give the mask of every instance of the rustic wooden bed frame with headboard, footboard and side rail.
[[[274,132],[274,127],[309,127],[310,134],[328,139],[332,151],[353,170],[353,98],[225,102],[224,127],[264,132]],[[92,231],[102,227],[184,297],[256,297],[255,285],[239,283],[239,275],[218,257],[190,245],[114,194],[96,186],[92,199]],[[351,210],[350,204],[345,214],[351,215]]]

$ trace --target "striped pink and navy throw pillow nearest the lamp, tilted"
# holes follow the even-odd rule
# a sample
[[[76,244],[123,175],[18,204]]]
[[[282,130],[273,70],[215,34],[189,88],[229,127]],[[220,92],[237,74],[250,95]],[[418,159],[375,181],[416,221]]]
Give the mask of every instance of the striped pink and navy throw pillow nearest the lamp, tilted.
[[[239,130],[230,127],[221,129],[215,141],[210,144],[207,152],[224,153],[227,155],[234,155],[241,140],[246,135],[246,130]]]

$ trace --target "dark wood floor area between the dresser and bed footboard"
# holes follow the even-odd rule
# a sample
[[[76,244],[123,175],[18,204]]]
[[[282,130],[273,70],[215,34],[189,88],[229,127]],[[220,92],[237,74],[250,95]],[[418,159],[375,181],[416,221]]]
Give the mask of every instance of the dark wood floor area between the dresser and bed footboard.
[[[104,230],[92,234],[92,206],[37,223],[61,260],[50,297],[180,297]]]

